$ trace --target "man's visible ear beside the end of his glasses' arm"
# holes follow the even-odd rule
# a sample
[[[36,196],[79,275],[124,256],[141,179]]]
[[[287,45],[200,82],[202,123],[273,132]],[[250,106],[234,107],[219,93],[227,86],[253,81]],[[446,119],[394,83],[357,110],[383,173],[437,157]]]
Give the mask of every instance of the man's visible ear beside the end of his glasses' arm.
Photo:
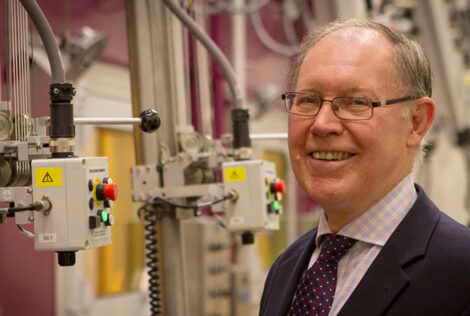
[[[436,104],[431,98],[425,97],[414,101],[411,112],[411,130],[406,139],[408,147],[415,147],[431,126],[436,113]]]

